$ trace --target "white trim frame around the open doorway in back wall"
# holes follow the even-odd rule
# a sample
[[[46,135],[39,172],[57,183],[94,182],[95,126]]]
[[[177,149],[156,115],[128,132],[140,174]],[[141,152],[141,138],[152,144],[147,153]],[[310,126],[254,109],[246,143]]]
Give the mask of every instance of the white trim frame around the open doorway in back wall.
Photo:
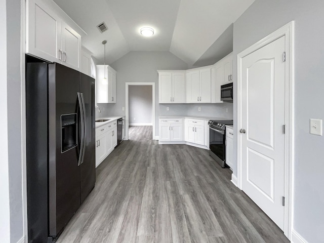
[[[128,88],[130,85],[133,86],[152,86],[152,129],[153,129],[153,137],[155,139],[155,83],[136,83],[136,82],[127,82],[126,83],[126,104],[125,104],[125,140],[128,140],[128,127],[129,127],[129,107],[128,107],[128,100],[129,100],[129,93]]]

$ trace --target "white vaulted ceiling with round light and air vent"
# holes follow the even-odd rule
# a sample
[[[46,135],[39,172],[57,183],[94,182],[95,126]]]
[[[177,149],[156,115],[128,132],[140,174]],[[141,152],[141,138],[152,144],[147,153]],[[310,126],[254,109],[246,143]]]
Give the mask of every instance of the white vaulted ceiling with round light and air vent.
[[[213,56],[206,52],[216,50],[212,45],[254,1],[54,0],[85,30],[82,45],[99,61],[106,39],[108,64],[130,51],[170,51],[189,66],[202,56]],[[103,21],[108,30],[100,33],[96,26]],[[154,29],[152,37],[139,33],[144,26]]]

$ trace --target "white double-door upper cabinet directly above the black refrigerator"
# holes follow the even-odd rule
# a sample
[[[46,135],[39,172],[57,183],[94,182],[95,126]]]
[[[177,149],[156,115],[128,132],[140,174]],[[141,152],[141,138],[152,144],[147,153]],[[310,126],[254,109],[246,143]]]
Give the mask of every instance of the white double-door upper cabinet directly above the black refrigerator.
[[[42,0],[28,0],[26,51],[79,70],[81,36]]]

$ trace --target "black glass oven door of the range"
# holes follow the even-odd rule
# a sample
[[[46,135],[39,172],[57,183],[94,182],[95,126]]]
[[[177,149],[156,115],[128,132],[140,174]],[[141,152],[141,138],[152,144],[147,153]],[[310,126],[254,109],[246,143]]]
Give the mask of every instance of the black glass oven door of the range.
[[[209,126],[210,155],[225,167],[225,131]]]

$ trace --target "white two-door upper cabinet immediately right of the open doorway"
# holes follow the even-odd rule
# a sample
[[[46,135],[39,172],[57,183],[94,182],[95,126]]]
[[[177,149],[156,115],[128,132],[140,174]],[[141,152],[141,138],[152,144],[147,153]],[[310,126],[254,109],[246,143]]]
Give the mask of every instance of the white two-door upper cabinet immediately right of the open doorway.
[[[185,72],[158,70],[159,103],[185,103]]]

